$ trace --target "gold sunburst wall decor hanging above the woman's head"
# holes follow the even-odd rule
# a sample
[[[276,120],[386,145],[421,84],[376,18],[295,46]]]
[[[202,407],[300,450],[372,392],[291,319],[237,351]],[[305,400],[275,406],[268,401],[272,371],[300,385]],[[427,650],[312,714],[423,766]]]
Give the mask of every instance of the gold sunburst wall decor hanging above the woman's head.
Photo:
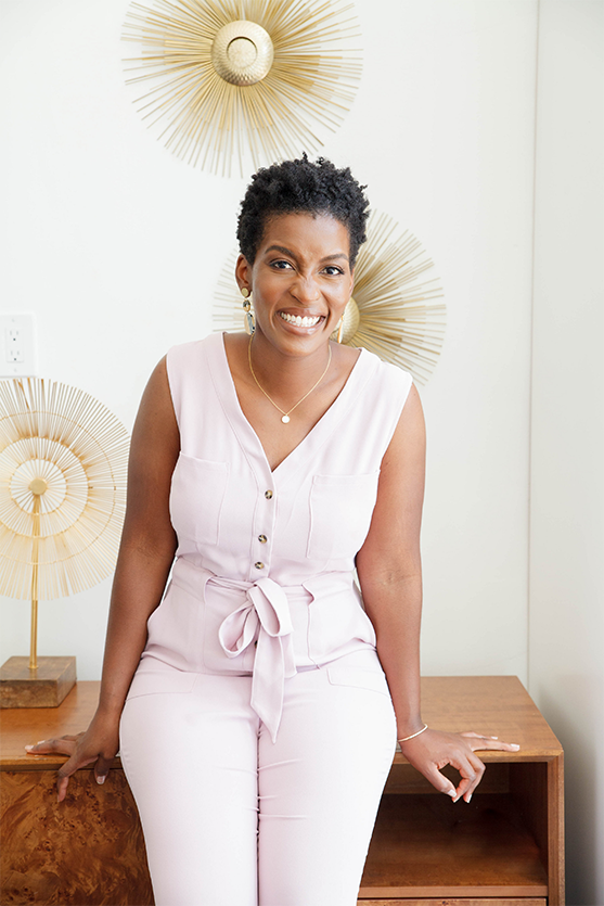
[[[352,103],[361,63],[351,4],[338,0],[132,3],[124,39],[142,46],[127,82],[143,119],[177,156],[241,175],[314,152]]]

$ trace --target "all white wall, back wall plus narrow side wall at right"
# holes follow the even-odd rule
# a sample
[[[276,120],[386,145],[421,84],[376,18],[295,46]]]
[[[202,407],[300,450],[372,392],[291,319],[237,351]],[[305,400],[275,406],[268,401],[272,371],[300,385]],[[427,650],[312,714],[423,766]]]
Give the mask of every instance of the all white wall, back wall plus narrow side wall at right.
[[[568,756],[568,903],[601,906],[604,7],[540,0],[532,326],[538,0],[356,8],[363,78],[325,153],[423,241],[448,305],[422,391],[424,672],[526,680],[530,642],[530,690]],[[0,4],[0,305],[37,314],[41,375],[131,426],[154,362],[210,330],[245,183],[146,132],[126,9]],[[108,589],[41,607],[41,652],[77,654],[80,678],[99,676]],[[27,652],[26,603],[0,600],[0,663]]]

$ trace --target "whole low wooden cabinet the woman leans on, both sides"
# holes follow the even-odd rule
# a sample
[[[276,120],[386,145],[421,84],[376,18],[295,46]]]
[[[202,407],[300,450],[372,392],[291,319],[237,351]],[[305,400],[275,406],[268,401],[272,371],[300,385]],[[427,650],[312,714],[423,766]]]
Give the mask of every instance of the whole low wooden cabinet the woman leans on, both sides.
[[[487,771],[470,804],[433,791],[397,752],[359,906],[564,906],[563,754],[551,729],[515,677],[422,684],[430,726],[497,733],[522,749],[480,753]],[[64,760],[23,750],[82,729],[97,696],[97,682],[78,682],[57,709],[0,711],[1,903],[153,904],[119,761],[104,787],[79,771],[57,807],[54,775]]]

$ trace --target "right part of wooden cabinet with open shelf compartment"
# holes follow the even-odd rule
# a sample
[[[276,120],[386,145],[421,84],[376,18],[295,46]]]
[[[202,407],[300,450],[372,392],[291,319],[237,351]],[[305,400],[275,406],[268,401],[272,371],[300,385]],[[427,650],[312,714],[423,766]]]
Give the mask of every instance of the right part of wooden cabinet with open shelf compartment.
[[[398,752],[359,906],[563,906],[563,753],[519,680],[425,677],[422,698],[430,727],[521,750],[478,753],[487,770],[470,804],[437,793]]]

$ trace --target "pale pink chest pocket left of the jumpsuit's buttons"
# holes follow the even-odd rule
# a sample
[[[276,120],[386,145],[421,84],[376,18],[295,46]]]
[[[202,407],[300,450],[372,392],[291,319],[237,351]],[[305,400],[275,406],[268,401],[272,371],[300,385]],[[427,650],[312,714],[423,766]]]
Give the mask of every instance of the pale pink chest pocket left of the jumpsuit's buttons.
[[[217,545],[229,467],[180,454],[172,474],[170,518],[179,541]]]

